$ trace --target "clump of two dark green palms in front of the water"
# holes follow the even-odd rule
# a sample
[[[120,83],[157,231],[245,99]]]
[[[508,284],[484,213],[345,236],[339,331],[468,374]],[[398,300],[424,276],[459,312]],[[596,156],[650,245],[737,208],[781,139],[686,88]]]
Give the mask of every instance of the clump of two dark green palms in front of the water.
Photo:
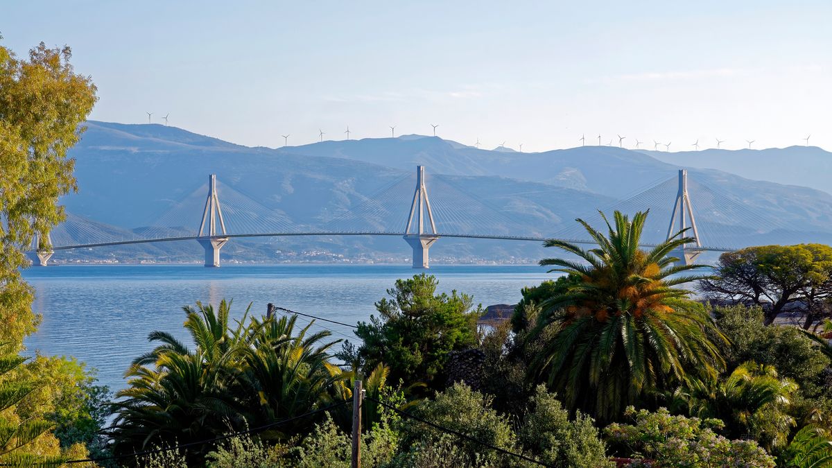
[[[247,425],[282,421],[328,403],[339,379],[320,344],[329,332],[295,330],[295,316],[247,320],[230,325],[230,303],[185,307],[186,329],[196,345],[188,349],[171,334],[154,331],[156,349],[139,356],[119,391],[111,430],[114,451],[125,453],[172,441],[201,441]],[[336,341],[337,342],[337,341]],[[265,431],[266,440],[285,438],[310,425],[297,420]],[[191,447],[199,464],[210,447]]]

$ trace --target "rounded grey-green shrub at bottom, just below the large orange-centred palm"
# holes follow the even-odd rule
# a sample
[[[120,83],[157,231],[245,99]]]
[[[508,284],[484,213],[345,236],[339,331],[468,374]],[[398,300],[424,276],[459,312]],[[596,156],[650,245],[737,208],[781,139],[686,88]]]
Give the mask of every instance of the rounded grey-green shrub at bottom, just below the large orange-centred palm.
[[[577,411],[574,421],[569,421],[569,413],[544,386],[537,386],[531,406],[518,431],[518,442],[527,454],[547,466],[610,465],[591,417]]]

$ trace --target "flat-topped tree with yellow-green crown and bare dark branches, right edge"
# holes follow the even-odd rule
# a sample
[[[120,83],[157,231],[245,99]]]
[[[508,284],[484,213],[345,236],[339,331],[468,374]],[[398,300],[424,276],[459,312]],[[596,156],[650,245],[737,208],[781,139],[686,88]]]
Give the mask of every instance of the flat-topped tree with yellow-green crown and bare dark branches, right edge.
[[[753,246],[726,252],[716,265],[716,277],[699,288],[720,300],[763,306],[770,325],[788,306],[805,308],[804,328],[825,315],[832,297],[832,247],[822,244]]]

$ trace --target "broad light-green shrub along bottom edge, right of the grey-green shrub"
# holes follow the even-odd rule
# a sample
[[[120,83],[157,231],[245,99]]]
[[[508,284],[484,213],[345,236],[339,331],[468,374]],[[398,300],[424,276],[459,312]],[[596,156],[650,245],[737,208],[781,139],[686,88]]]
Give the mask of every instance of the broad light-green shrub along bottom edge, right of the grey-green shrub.
[[[636,411],[632,406],[625,416],[634,424],[613,423],[604,429],[618,456],[643,458],[658,466],[775,466],[756,442],[716,435],[713,430],[722,427],[719,420],[671,416],[665,408]]]

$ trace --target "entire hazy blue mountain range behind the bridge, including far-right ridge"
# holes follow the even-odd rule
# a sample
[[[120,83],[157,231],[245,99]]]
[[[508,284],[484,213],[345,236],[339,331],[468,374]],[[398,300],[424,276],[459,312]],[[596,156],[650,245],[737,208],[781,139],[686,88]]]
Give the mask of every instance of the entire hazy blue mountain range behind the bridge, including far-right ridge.
[[[597,209],[616,206],[656,182],[673,179],[679,168],[686,167],[691,181],[700,184],[691,185],[697,216],[703,223],[711,217],[710,231],[730,237],[732,245],[832,240],[832,195],[820,190],[824,188],[822,174],[829,173],[823,168],[832,161],[832,154],[815,147],[658,153],[587,146],[527,153],[407,135],[267,148],[245,147],[157,124],[91,121],[85,126],[81,142],[69,152],[76,160],[79,192],[62,202],[68,212],[114,228],[152,226],[201,187],[210,173],[217,174],[225,187],[280,212],[297,226],[322,227],[344,213],[360,211],[379,191],[389,190],[391,184],[412,175],[415,166],[424,165],[428,192],[430,177],[436,177],[436,187],[439,182],[450,187],[446,189],[450,195],[436,188],[437,209],[450,213],[462,210],[454,204],[470,203],[483,212],[493,211],[492,217],[483,217],[493,232],[550,236],[571,229],[574,218],[593,217]],[[790,162],[788,170],[777,170],[785,166],[784,161]],[[775,168],[768,170],[769,163]],[[805,174],[804,183],[798,183],[800,172]],[[355,222],[393,229],[398,226],[391,224],[393,218],[406,219],[413,187],[398,183],[407,190],[395,196],[399,205],[394,216],[360,212],[356,216],[363,218]],[[666,231],[674,184],[665,184],[672,193],[656,194],[661,200],[653,202],[658,206],[651,209],[656,223],[653,232]],[[692,192],[692,187],[700,186],[702,193]],[[452,195],[463,202],[442,199]],[[198,224],[201,207],[191,212],[196,221],[189,226]],[[753,222],[741,222],[748,217]],[[460,230],[473,229],[473,222],[460,223]],[[200,253],[196,242],[182,241],[64,251],[56,257],[64,261],[198,261]],[[536,261],[552,253],[537,243],[518,241],[441,239],[431,249],[434,259],[447,262]],[[389,237],[274,237],[235,239],[223,254],[230,261],[405,262],[410,251],[404,241]]]

